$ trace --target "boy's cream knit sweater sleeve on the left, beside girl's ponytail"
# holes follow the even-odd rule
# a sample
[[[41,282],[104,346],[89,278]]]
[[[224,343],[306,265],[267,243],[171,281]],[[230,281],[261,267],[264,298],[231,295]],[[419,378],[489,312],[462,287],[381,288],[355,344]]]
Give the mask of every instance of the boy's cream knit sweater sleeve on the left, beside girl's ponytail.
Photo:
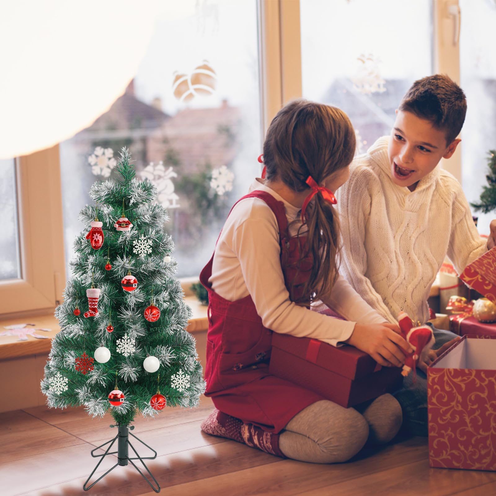
[[[383,317],[383,321],[396,323],[382,297],[365,275],[365,236],[372,205],[371,194],[367,190],[367,184],[372,180],[368,177],[370,175],[372,173],[358,166],[352,170],[350,179],[339,190],[337,206],[343,237],[340,272],[365,302]]]

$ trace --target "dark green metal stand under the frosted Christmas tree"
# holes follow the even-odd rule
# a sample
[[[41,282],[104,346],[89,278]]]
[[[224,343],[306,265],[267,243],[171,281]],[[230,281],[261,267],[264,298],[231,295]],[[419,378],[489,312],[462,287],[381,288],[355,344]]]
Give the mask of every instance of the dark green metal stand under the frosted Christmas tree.
[[[110,441],[104,442],[101,446],[98,446],[97,448],[95,448],[91,451],[91,456],[93,458],[98,458],[98,457],[101,457],[101,458],[100,458],[100,461],[97,463],[96,467],[93,469],[93,472],[91,472],[88,479],[86,479],[86,482],[83,485],[84,491],[88,491],[88,489],[92,488],[100,479],[103,479],[109,472],[112,472],[112,470],[114,470],[118,465],[127,465],[127,462],[131,462],[132,466],[140,473],[141,477],[143,477],[143,479],[151,486],[153,491],[155,491],[155,493],[160,493],[160,486],[159,486],[157,480],[155,479],[155,477],[153,477],[152,473],[148,470],[148,467],[145,465],[145,462],[143,461],[143,460],[153,460],[153,459],[157,458],[157,452],[153,448],[150,448],[150,446],[148,446],[148,444],[146,444],[141,439],[136,437],[134,434],[129,432],[129,430],[132,431],[134,429],[134,426],[128,427],[128,426],[117,424],[115,426],[110,426],[110,427],[118,427],[119,432],[114,437],[114,439],[111,439]],[[135,439],[137,439],[141,444],[144,444],[147,448],[151,449],[155,454],[153,456],[139,456],[137,451],[134,449],[134,446],[129,442],[129,436],[130,435],[132,435]],[[110,448],[112,448],[112,445],[114,444],[114,442],[116,442],[116,439],[119,439],[118,443],[117,443],[117,451],[112,451],[109,453]],[[94,451],[96,451],[97,449],[100,449],[101,447],[105,446],[106,444],[109,444],[109,447],[107,448],[107,451],[105,451],[105,453],[103,455],[94,455],[93,454]],[[132,450],[134,451],[134,454],[136,455],[135,457],[129,458],[127,445],[131,446]],[[111,469],[107,470],[107,472],[105,472],[105,474],[100,476],[93,484],[91,484],[91,486],[86,487],[86,484],[88,484],[89,480],[91,479],[91,476],[96,472],[96,469],[99,467],[100,463],[102,463],[102,460],[107,455],[114,455],[116,453],[117,453],[117,463]],[[141,470],[139,470],[139,468],[136,467],[136,465],[134,464],[134,462],[132,460],[139,460],[143,464],[143,467],[145,467],[146,471],[150,474],[150,477],[154,480],[155,484],[157,485],[156,488],[145,477],[143,472],[141,472]]]

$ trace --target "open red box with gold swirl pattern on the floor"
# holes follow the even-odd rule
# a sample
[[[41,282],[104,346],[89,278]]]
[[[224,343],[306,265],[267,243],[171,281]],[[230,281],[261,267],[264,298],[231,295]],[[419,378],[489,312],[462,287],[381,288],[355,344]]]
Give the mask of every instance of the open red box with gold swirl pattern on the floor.
[[[431,467],[496,471],[496,336],[464,336],[427,369]]]

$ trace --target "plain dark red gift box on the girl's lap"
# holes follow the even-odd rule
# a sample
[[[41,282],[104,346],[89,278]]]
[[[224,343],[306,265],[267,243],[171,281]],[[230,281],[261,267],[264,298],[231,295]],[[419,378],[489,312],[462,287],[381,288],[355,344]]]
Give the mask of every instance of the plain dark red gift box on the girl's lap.
[[[353,346],[336,348],[322,341],[272,334],[269,372],[310,389],[345,408],[401,386],[396,367],[381,368]]]

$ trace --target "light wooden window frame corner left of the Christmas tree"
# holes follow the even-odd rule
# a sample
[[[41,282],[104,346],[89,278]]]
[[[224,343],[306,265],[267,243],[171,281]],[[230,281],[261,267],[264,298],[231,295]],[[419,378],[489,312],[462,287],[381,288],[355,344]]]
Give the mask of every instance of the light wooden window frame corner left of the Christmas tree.
[[[59,146],[15,159],[21,277],[0,281],[0,315],[53,311],[65,286]]]

